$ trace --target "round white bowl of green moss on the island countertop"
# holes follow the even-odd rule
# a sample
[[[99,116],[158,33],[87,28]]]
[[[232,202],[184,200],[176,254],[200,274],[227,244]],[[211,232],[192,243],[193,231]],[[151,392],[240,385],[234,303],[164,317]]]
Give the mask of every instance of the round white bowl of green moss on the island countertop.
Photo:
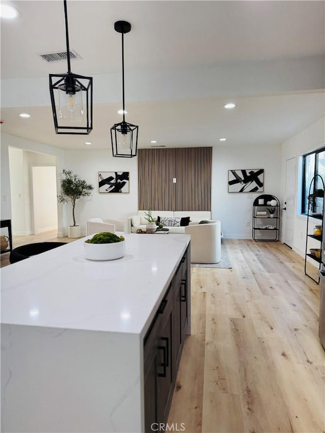
[[[84,242],[84,254],[88,260],[114,260],[125,255],[125,240],[109,231],[102,231]]]

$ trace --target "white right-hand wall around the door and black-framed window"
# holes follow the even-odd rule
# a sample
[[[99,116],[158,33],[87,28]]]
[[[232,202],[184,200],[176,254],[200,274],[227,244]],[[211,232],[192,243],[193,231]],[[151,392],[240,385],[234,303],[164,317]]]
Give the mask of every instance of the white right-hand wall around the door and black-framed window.
[[[306,247],[306,231],[307,231],[307,217],[298,215],[297,206],[298,206],[298,188],[299,188],[299,162],[301,160],[301,155],[303,153],[308,153],[312,150],[315,150],[319,147],[324,146],[325,144],[325,117],[320,118],[317,122],[308,126],[308,128],[301,131],[294,137],[291,137],[289,140],[283,143],[282,145],[282,155],[281,155],[281,200],[284,201],[284,193],[285,193],[285,162],[289,158],[296,157],[297,167],[296,167],[296,176],[297,176],[297,191],[295,198],[295,216],[294,216],[294,239],[293,239],[293,250],[298,252],[303,257],[305,256],[305,247]],[[312,227],[315,224],[319,224],[319,220],[310,218],[310,227],[308,229],[309,232],[312,232]],[[318,245],[315,245],[315,248],[319,248]],[[313,245],[310,244],[310,248],[313,248]],[[313,263],[314,264],[314,263]]]

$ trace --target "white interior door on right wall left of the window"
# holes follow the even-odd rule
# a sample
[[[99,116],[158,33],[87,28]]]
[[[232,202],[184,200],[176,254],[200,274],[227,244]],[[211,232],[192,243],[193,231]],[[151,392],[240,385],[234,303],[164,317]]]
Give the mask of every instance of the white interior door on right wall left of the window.
[[[285,165],[285,201],[283,205],[283,242],[290,248],[293,246],[296,196],[296,158],[286,160]]]

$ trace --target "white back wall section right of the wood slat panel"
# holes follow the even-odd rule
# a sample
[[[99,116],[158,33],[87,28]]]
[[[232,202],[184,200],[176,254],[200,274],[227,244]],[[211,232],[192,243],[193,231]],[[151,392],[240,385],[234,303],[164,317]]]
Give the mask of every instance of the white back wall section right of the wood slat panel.
[[[264,192],[229,193],[228,170],[264,169]],[[212,155],[212,219],[221,221],[225,238],[252,238],[252,207],[260,194],[280,196],[281,145],[217,146]]]

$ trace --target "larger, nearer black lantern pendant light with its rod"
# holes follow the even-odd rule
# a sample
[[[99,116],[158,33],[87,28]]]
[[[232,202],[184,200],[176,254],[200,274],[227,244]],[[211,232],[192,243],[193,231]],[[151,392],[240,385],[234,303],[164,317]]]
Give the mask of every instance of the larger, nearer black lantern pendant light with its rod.
[[[67,74],[50,74],[50,95],[56,134],[89,134],[92,130],[92,77],[71,72],[67,0],[63,0],[66,21]]]

